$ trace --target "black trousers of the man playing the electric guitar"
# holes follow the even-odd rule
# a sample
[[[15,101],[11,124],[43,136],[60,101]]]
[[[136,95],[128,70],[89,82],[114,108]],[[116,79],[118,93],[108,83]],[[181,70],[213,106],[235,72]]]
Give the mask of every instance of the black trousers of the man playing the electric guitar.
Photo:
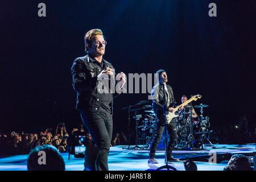
[[[156,127],[155,135],[153,142],[150,146],[150,158],[155,158],[155,151],[156,148],[158,147],[159,140],[162,137],[164,132],[164,125],[160,124],[158,122],[158,125]],[[169,135],[169,141],[168,141],[168,146],[167,146],[167,158],[170,158],[172,155],[172,150],[174,150],[174,146],[176,144],[176,139],[177,139],[177,128],[176,128],[176,123],[175,119],[173,118],[170,123],[167,125],[167,132]]]

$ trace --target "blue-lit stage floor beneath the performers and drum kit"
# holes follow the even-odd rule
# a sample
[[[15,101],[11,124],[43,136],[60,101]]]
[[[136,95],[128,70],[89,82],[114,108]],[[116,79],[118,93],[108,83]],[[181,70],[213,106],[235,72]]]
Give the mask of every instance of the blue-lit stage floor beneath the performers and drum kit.
[[[173,162],[169,164],[175,167],[178,171],[185,171],[183,160],[185,158],[192,158],[197,165],[198,171],[223,171],[227,165],[226,162],[233,154],[244,154],[246,156],[253,156],[255,150],[254,144],[245,145],[227,145],[214,144],[205,146],[204,150],[189,151],[189,150],[175,150],[172,155],[179,158],[180,162]],[[133,146],[130,146],[133,147]],[[155,170],[160,166],[164,166],[164,150],[156,151],[156,159],[159,164],[148,164],[148,150],[134,150],[127,149],[127,146],[110,147],[109,153],[109,170],[110,171],[146,171]],[[217,154],[217,163],[209,163],[209,158]],[[63,153],[65,166],[67,171],[82,171],[84,169],[84,159],[74,158],[70,156],[68,160],[68,153]],[[212,160],[211,160],[212,161]],[[222,161],[222,163],[220,163]],[[0,158],[0,171],[26,171],[27,170],[27,155],[16,155],[5,158]]]

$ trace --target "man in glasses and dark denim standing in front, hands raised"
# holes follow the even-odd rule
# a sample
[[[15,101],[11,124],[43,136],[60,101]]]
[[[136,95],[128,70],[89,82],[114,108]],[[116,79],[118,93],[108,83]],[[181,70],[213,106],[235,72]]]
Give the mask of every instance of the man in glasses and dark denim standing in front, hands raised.
[[[95,151],[85,151],[85,170],[106,171],[109,169],[108,154],[113,132],[113,96],[117,94],[110,90],[102,93],[98,85],[106,77],[108,80],[114,75],[114,68],[102,57],[106,41],[100,29],[88,31],[84,39],[85,52],[88,54],[75,59],[71,72],[72,85],[77,92],[76,109],[80,110],[82,121],[96,143]],[[117,80],[122,81],[123,86],[125,74],[118,73]],[[88,164],[88,161],[92,162]]]

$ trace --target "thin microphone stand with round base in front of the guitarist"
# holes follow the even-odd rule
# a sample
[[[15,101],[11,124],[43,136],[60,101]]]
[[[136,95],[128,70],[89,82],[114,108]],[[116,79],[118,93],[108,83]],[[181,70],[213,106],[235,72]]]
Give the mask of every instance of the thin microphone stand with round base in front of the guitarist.
[[[165,94],[166,90],[164,89],[164,85],[163,85],[163,95],[164,95],[164,104],[166,103],[166,94]],[[166,119],[166,111],[164,110],[165,108],[165,105],[163,104],[163,117],[164,117],[164,140],[165,140],[165,146],[166,146],[166,155],[165,155],[165,158],[166,158],[166,165],[164,166],[161,166],[159,168],[156,169],[156,171],[159,171],[160,169],[167,169],[168,171],[170,171],[170,169],[174,170],[174,171],[177,171],[176,168],[172,167],[172,166],[169,166],[168,165],[168,161],[167,161],[167,119]],[[167,111],[168,112],[168,111]]]

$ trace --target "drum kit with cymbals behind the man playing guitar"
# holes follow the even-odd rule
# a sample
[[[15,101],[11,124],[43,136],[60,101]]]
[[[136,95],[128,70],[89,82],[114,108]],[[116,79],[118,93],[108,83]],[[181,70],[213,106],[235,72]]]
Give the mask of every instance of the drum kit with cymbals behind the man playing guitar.
[[[128,109],[129,111],[129,125],[130,125],[130,113],[134,112],[134,119],[135,119],[135,147],[133,148],[140,148],[140,149],[149,149],[152,140],[154,139],[155,130],[158,123],[158,118],[156,114],[152,110],[151,105],[144,105],[147,104],[148,101],[141,101],[138,102],[137,105],[133,106],[140,106],[138,109],[131,109],[133,106],[124,107],[123,109]],[[206,134],[209,132],[210,121],[209,117],[203,116],[203,109],[208,107],[209,105],[186,105],[184,109],[179,111],[179,117],[175,119],[176,126],[177,126],[177,142],[175,149],[176,150],[185,150],[186,148],[199,148],[204,146],[205,140],[212,145],[209,139],[206,137]],[[200,108],[200,116],[197,116],[197,119],[192,117],[193,107]],[[137,114],[140,111],[140,114]],[[130,126],[129,126],[130,127]],[[164,134],[163,134],[164,135]],[[129,131],[129,140],[130,140],[130,131]],[[212,145],[213,146],[213,145]],[[160,139],[159,149],[164,148],[164,137]],[[129,147],[130,148],[130,141]]]

